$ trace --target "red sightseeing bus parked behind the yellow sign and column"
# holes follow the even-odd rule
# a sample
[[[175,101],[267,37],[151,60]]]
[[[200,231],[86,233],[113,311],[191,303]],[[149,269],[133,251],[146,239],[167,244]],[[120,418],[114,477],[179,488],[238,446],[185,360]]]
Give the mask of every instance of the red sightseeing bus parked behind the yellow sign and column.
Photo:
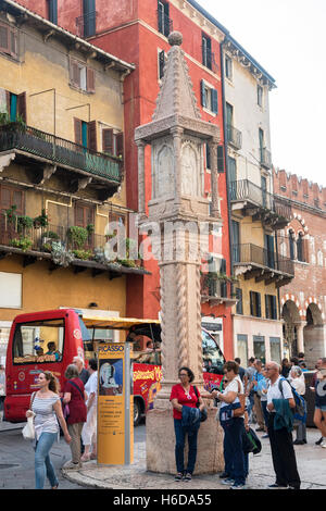
[[[64,386],[64,372],[75,356],[87,361],[97,356],[99,342],[117,340],[122,331],[125,340],[134,342],[134,421],[137,425],[153,407],[162,379],[160,321],[131,317],[85,317],[75,309],[58,309],[17,315],[12,324],[7,350],[7,397],[4,420],[25,421],[30,395],[38,388],[38,374],[51,371]],[[142,349],[146,341],[151,349]],[[221,383],[224,356],[215,339],[202,329],[204,385],[208,390]]]

